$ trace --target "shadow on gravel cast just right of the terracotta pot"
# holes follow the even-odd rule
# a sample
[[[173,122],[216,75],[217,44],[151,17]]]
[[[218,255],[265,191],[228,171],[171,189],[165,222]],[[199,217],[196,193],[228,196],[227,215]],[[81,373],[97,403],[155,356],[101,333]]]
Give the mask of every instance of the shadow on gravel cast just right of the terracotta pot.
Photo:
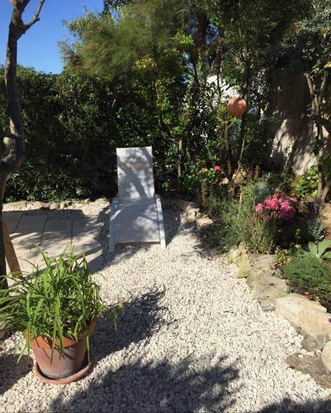
[[[99,361],[112,352],[127,348],[131,343],[148,339],[152,332],[159,330],[165,324],[161,312],[166,308],[159,303],[164,294],[163,291],[153,290],[128,301],[125,313],[120,316],[117,332],[108,317],[99,319],[92,335],[93,359]]]

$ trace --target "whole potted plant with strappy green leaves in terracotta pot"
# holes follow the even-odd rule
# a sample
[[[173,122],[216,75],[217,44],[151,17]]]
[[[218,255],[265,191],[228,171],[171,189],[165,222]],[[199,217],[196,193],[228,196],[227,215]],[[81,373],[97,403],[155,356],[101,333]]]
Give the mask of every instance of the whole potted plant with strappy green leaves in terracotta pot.
[[[11,273],[10,287],[0,290],[1,330],[21,331],[24,353],[34,352],[34,371],[50,383],[70,383],[90,366],[90,335],[97,317],[109,311],[116,328],[117,307],[106,308],[92,281],[84,254],[71,248],[58,259],[39,247],[42,265],[32,273]],[[123,308],[122,308],[123,310]]]

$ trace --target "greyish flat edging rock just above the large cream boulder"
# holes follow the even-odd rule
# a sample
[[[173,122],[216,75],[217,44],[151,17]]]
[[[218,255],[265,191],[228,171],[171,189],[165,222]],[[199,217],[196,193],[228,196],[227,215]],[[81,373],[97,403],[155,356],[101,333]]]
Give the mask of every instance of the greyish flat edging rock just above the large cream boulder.
[[[283,279],[261,275],[261,277],[248,279],[248,286],[252,288],[252,295],[256,299],[277,299],[288,295],[289,288]]]

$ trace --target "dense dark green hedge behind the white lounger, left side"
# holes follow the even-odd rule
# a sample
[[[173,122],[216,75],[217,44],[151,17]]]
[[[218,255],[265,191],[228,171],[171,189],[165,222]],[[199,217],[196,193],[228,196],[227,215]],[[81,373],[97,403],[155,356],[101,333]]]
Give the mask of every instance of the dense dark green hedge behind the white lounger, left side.
[[[3,79],[3,68],[0,70]],[[173,143],[159,130],[153,90],[122,78],[43,74],[19,68],[26,160],[8,181],[7,200],[61,200],[116,191],[116,147],[153,145],[157,174]],[[8,131],[0,83],[0,134]]]

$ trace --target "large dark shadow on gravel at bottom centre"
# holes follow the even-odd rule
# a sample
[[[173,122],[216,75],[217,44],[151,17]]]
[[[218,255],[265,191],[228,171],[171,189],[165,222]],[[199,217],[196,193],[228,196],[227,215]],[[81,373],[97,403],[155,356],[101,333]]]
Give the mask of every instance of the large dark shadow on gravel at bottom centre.
[[[51,412],[189,413],[217,412],[230,408],[235,393],[229,384],[238,370],[220,359],[217,366],[190,357],[177,366],[168,361],[123,363],[113,372],[92,381],[63,403],[58,396]]]

